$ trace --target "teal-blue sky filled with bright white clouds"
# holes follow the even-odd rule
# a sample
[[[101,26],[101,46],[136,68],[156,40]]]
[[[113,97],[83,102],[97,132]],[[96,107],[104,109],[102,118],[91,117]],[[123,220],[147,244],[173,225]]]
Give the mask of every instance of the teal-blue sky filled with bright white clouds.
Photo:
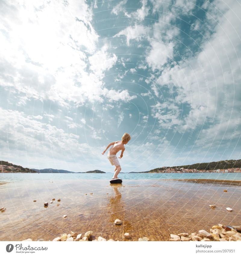
[[[121,172],[240,159],[241,2],[0,2],[0,160]],[[120,153],[117,153],[119,156]]]

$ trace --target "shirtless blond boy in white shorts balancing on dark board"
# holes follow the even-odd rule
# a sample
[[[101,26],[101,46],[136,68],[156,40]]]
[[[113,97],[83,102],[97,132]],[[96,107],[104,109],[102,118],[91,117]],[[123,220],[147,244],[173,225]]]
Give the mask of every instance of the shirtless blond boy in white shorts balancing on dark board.
[[[121,141],[114,141],[114,142],[111,142],[107,148],[102,152],[102,155],[105,154],[105,151],[111,146],[113,145],[111,148],[110,148],[110,151],[108,152],[108,159],[110,160],[111,162],[111,165],[114,165],[115,166],[115,169],[114,169],[114,176],[112,179],[118,179],[117,175],[119,174],[119,172],[121,171],[121,166],[120,166],[120,163],[119,163],[119,160],[116,156],[116,153],[118,151],[121,150],[121,155],[119,156],[119,158],[121,159],[123,157],[123,153],[124,153],[124,150],[125,150],[125,147],[124,145],[128,143],[128,141],[130,141],[130,134],[128,133],[125,133],[122,138],[121,138]]]

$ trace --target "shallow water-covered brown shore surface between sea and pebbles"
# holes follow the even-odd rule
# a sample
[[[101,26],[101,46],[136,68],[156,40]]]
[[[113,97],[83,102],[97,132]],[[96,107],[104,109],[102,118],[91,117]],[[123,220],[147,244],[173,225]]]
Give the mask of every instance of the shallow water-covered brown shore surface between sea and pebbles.
[[[93,235],[107,240],[137,241],[147,236],[150,241],[169,241],[170,233],[209,231],[218,223],[241,224],[240,182],[152,179],[110,185],[108,180],[25,181],[2,183],[0,194],[0,207],[6,207],[0,213],[0,241],[52,241],[70,230],[92,230]],[[52,198],[56,200],[45,208],[44,202]],[[57,203],[60,205],[55,206]],[[209,204],[217,207],[212,210]],[[123,224],[115,226],[115,219]],[[132,238],[125,239],[125,232]]]

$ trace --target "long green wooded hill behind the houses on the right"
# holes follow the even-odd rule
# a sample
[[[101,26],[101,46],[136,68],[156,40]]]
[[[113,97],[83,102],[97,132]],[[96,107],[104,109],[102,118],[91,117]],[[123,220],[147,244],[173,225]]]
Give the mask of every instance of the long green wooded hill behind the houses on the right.
[[[216,169],[228,169],[228,168],[240,168],[241,167],[241,159],[239,160],[222,160],[218,162],[210,162],[210,163],[194,163],[191,165],[180,165],[180,166],[167,166],[166,168],[173,169],[198,169],[198,170],[216,170]],[[160,167],[150,170],[150,172],[156,172],[158,170],[164,170],[166,168]]]

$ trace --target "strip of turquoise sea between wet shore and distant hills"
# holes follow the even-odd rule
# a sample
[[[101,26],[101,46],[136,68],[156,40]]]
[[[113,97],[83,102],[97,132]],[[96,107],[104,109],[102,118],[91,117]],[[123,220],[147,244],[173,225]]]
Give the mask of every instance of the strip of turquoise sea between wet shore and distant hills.
[[[0,182],[18,182],[27,180],[109,180],[113,173],[0,173]],[[241,172],[237,173],[120,173],[123,180],[139,179],[217,179],[241,180]]]

